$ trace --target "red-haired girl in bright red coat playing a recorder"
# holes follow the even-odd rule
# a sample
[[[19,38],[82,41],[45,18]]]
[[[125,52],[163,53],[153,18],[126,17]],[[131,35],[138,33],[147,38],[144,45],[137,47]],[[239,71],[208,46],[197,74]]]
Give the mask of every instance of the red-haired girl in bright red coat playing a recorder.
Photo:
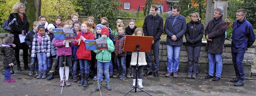
[[[86,50],[84,40],[93,40],[94,36],[92,31],[88,28],[89,23],[87,21],[83,22],[81,25],[82,31],[76,36],[76,46],[78,46],[76,56],[80,63],[81,77],[82,80],[79,82],[78,86],[88,86],[88,76],[90,71],[90,61],[91,51]],[[79,43],[80,42],[80,43]]]

